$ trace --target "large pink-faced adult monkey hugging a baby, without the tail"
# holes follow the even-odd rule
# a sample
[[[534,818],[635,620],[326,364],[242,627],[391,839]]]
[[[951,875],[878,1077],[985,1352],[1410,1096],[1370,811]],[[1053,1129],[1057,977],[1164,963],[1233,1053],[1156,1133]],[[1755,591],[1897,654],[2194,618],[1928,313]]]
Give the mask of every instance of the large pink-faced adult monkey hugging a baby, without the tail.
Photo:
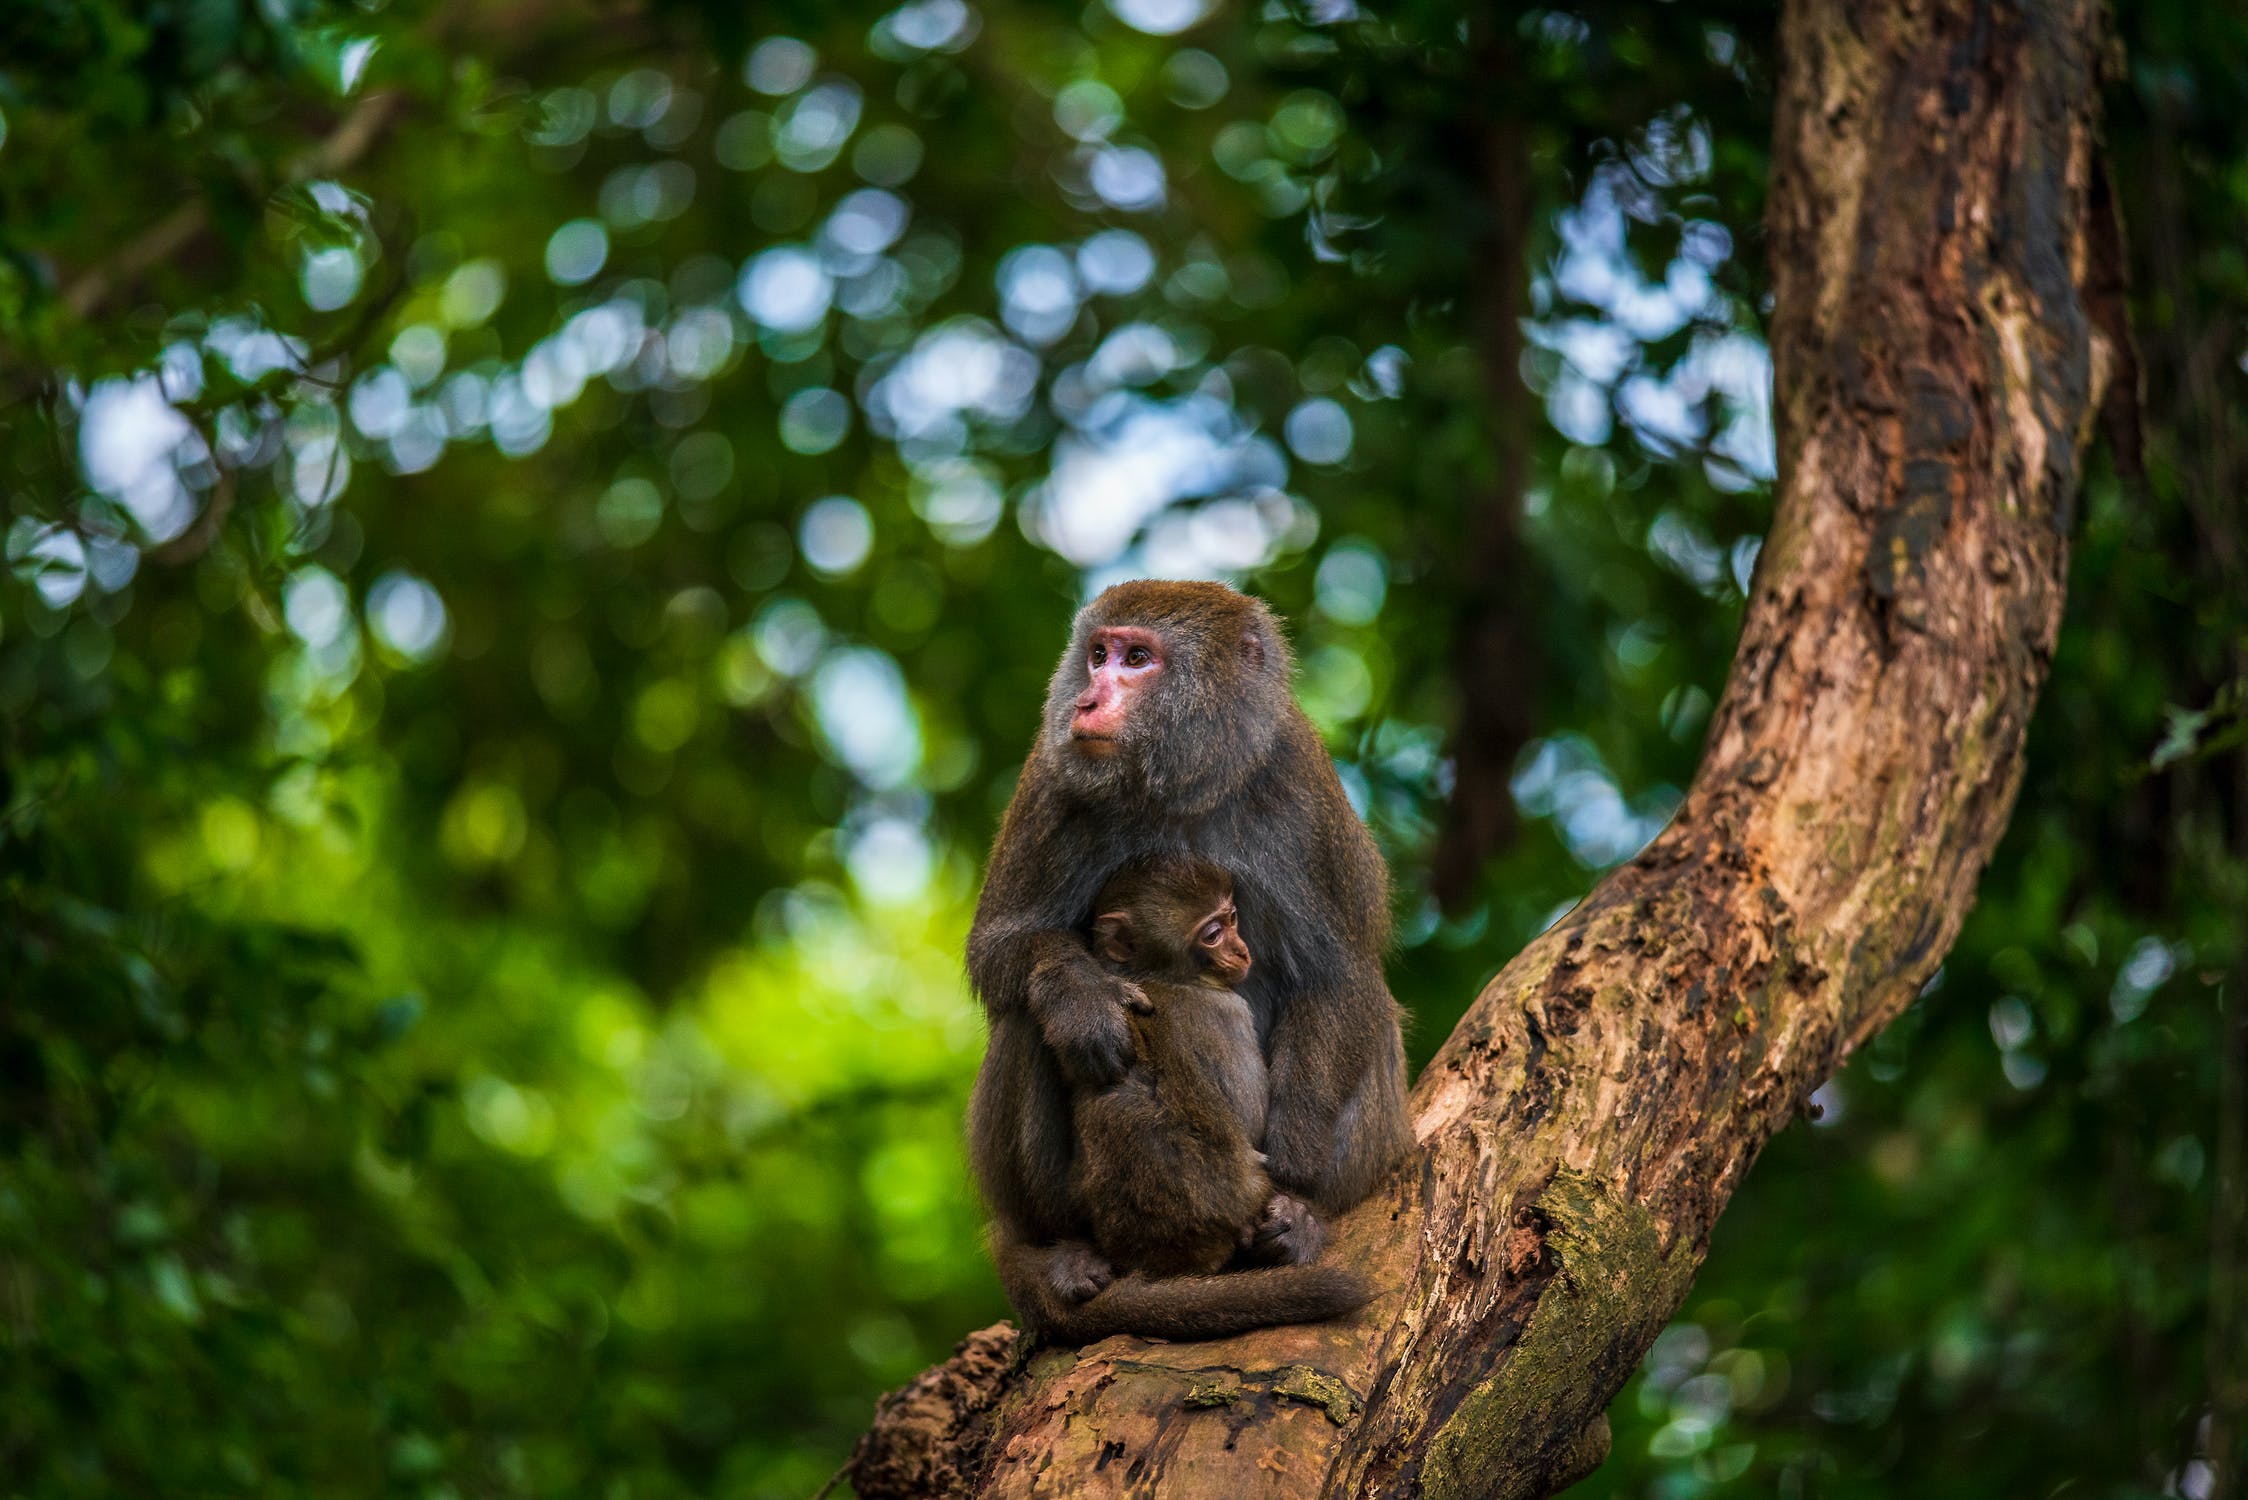
[[[1079,931],[1131,859],[1185,850],[1234,873],[1257,954],[1241,994],[1272,1077],[1263,1257],[1315,1259],[1317,1214],[1367,1196],[1409,1142],[1389,875],[1288,675],[1272,612],[1216,582],[1122,582],[1070,630],[967,951],[991,1023],[969,1151],[1018,1313],[1115,1275],[1072,1181],[1070,1091],[1131,1066],[1135,996]]]

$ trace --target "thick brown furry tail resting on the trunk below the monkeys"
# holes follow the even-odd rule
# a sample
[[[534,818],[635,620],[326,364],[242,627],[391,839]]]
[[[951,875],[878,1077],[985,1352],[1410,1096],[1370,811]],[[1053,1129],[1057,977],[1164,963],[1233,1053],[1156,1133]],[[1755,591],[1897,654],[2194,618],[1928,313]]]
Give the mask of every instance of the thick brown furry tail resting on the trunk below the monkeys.
[[[1324,1322],[1356,1313],[1374,1289],[1340,1266],[1266,1266],[1221,1275],[1126,1275],[1066,1309],[1048,1309],[1043,1334],[1088,1345],[1111,1334],[1146,1338],[1225,1338],[1281,1322]]]

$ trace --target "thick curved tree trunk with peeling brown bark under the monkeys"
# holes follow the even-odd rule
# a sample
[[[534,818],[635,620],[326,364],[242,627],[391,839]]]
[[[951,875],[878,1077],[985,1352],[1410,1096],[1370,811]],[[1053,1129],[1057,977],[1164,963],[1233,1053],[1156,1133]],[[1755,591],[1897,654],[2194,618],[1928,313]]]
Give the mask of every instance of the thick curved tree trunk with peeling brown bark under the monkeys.
[[[1018,1358],[883,1403],[861,1493],[1542,1496],[1765,1140],[1927,983],[2021,776],[2115,351],[2091,0],[1783,22],[1778,510],[1675,823],[1477,999],[1335,1226],[1360,1318]]]

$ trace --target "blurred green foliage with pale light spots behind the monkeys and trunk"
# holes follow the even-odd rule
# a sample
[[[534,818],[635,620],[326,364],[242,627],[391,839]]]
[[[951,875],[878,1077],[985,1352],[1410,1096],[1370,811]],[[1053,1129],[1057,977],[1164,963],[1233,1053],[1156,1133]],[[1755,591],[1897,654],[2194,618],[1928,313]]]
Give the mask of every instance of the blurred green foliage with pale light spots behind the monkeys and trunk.
[[[2147,475],[1951,963],[1585,1493],[2203,1496],[2239,1439],[2248,22],[2118,25]],[[1425,1057],[1693,771],[1771,70],[1652,0],[9,7],[0,1489],[816,1489],[1003,1311],[958,951],[1115,576],[1290,618]],[[1488,591],[1540,738],[1441,913]]]

